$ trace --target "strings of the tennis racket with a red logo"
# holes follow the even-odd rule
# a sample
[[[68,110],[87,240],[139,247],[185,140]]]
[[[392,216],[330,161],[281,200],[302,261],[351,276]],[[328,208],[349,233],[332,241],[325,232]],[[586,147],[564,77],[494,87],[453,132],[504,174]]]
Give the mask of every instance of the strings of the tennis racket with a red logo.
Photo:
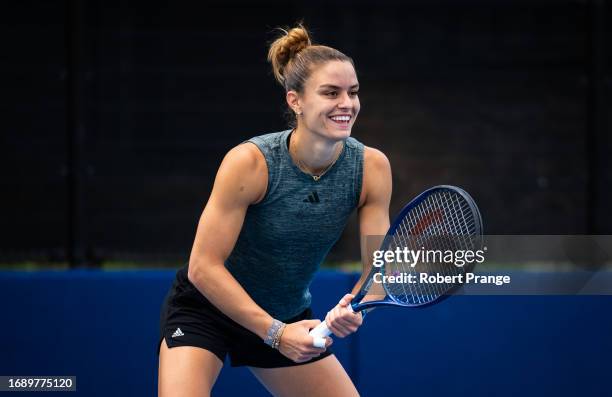
[[[388,241],[387,250],[436,252],[440,258],[447,251],[473,250],[479,235],[478,220],[469,202],[460,194],[440,191],[428,196],[404,217]],[[425,268],[425,266],[427,266]],[[465,266],[454,262],[434,260],[416,264],[394,261],[384,265],[387,276],[412,275],[413,282],[384,282],[387,293],[396,301],[408,305],[422,305],[436,300],[453,288],[456,283],[429,283],[420,281],[420,273],[428,275],[458,276],[465,274]]]

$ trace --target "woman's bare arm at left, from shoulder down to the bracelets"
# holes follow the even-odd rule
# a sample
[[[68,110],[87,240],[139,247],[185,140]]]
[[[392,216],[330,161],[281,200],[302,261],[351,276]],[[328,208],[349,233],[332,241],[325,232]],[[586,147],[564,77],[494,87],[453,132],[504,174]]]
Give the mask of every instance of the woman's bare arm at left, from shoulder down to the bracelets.
[[[261,200],[267,186],[263,154],[250,143],[223,159],[200,217],[189,258],[189,280],[213,305],[261,338],[272,317],[257,305],[225,268],[248,206]]]

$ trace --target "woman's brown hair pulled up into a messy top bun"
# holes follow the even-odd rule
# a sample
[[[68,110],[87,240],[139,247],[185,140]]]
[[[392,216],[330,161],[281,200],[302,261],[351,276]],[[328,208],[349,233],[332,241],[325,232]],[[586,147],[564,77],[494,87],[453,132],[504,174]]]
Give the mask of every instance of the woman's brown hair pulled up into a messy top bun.
[[[302,23],[289,30],[279,29],[284,34],[270,45],[268,61],[272,64],[274,77],[285,92],[301,94],[314,69],[329,61],[350,62],[355,67],[353,60],[342,52],[324,45],[313,45]],[[294,123],[295,115],[291,111],[289,114],[290,122]]]

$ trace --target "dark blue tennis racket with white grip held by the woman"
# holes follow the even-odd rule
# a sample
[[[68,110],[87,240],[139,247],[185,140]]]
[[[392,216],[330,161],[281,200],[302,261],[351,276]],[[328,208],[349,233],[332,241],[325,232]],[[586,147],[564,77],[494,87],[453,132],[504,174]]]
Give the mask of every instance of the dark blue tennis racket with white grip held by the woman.
[[[442,255],[438,253],[476,252],[481,247],[482,219],[472,197],[455,186],[432,187],[402,209],[379,250],[397,252],[399,249],[404,252],[407,249],[413,253],[420,250],[421,260],[414,256],[413,260],[406,260],[405,255],[400,255],[372,266],[348,308],[358,312],[379,306],[422,307],[439,302],[465,282],[465,274],[473,269],[476,261],[467,263],[461,260],[459,266],[456,260],[447,263],[422,259],[430,256],[441,259]],[[426,274],[424,280],[421,273]],[[431,282],[427,276],[434,275],[437,278]],[[398,279],[403,281],[397,282]],[[310,331],[316,347],[325,347],[324,337],[330,334],[325,321]]]

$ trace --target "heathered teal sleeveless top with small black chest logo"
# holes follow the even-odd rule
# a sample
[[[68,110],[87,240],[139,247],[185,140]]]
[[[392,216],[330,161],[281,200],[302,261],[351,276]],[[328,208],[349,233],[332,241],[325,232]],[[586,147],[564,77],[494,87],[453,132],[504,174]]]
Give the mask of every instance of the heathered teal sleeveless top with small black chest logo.
[[[338,159],[317,181],[293,163],[291,130],[247,142],[268,166],[264,198],[249,206],[230,256],[229,272],[274,318],[294,317],[310,306],[310,283],[359,204],[364,145],[347,138]]]

